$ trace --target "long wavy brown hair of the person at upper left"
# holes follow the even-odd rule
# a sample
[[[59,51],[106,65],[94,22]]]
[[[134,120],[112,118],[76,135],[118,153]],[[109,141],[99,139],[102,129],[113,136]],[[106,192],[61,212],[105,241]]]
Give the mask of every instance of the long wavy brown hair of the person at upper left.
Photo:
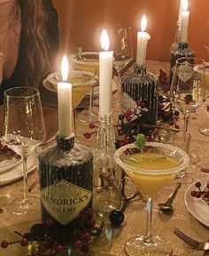
[[[21,36],[27,60],[25,72],[22,74],[24,84],[38,87],[44,76],[50,72],[56,55],[54,50],[58,50],[52,49],[47,30],[50,21],[49,9],[52,10],[53,5],[51,0],[18,0],[18,2],[21,11]],[[57,15],[57,12],[55,14]]]

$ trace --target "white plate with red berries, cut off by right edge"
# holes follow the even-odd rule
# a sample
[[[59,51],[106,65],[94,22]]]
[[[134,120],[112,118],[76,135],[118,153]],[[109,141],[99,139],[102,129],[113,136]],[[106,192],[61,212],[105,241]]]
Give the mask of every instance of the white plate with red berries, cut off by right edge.
[[[201,188],[204,188],[205,184],[209,181],[209,176],[199,180]],[[190,196],[190,192],[196,190],[195,182],[187,188],[184,195],[184,203],[187,206],[191,215],[199,222],[209,228],[209,205],[207,205],[202,199]]]

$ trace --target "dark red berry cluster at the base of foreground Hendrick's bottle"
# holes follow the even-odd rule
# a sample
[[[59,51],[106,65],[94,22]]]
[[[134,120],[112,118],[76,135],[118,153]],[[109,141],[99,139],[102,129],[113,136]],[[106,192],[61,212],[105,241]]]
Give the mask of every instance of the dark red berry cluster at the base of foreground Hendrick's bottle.
[[[27,246],[27,255],[42,256],[46,255],[59,255],[62,252],[69,252],[74,249],[81,250],[83,253],[89,252],[89,241],[92,236],[98,236],[101,230],[97,227],[96,220],[94,220],[93,210],[89,208],[85,212],[81,212],[79,218],[79,225],[65,233],[65,239],[60,238],[58,230],[54,225],[52,219],[48,219],[45,223],[35,223],[30,228],[29,233],[24,235],[15,231],[20,236],[19,241],[8,242],[3,240],[1,242],[2,248],[7,248],[11,244],[20,244]]]

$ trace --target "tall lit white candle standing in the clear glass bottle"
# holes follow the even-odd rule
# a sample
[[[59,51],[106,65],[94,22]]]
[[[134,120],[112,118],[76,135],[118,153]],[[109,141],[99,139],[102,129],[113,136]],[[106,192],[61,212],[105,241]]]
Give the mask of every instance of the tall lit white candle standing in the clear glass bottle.
[[[105,29],[100,37],[103,52],[99,52],[99,115],[112,112],[112,62],[113,52],[109,50],[109,37]]]

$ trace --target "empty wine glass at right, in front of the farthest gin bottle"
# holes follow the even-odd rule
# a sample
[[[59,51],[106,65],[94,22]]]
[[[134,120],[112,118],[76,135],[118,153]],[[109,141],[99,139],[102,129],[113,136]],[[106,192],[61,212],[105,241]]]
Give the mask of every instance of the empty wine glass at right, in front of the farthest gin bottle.
[[[202,71],[199,71],[199,67]],[[190,114],[205,101],[205,60],[183,57],[175,62],[171,97],[175,108],[184,115],[184,132],[188,131]]]

